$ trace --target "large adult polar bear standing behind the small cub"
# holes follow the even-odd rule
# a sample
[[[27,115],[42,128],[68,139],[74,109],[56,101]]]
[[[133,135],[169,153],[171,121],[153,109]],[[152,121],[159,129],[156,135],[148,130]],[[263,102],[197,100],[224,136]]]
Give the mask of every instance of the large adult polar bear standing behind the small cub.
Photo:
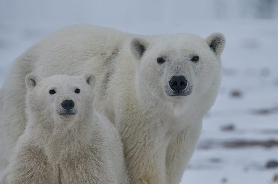
[[[97,77],[95,107],[115,123],[133,183],[175,184],[217,96],[225,37],[136,36],[108,28],[63,28],[16,59],[1,88],[1,168],[26,117],[24,78]]]

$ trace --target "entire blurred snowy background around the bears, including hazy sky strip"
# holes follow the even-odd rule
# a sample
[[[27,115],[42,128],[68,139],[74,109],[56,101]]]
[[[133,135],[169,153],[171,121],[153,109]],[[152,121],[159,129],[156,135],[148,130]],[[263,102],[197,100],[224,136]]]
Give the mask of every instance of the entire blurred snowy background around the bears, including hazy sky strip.
[[[148,35],[194,33],[205,38],[214,31],[224,33],[222,86],[204,118],[198,148],[182,183],[274,183],[278,174],[277,0],[1,0],[0,7],[1,85],[16,57],[70,24]]]

